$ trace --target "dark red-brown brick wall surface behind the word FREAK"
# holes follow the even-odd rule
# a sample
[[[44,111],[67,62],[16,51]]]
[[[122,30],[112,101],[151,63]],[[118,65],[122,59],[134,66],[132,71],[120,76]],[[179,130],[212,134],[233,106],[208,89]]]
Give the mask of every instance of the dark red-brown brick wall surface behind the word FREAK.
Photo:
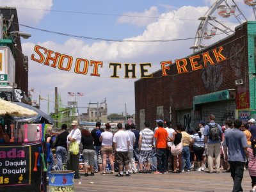
[[[212,49],[222,46],[223,56],[227,58],[220,63],[216,62]],[[182,51],[182,50],[180,50]],[[177,123],[177,111],[179,109],[192,109],[193,97],[211,92],[227,89],[248,90],[248,51],[247,51],[247,25],[236,28],[234,35],[228,36],[203,51],[209,51],[215,65],[204,68],[202,55],[198,63],[203,66],[200,70],[177,74],[176,65],[171,65],[167,70],[168,76],[162,76],[162,70],[154,73],[153,78],[140,79],[135,86],[136,124],[140,125],[140,109],[145,109],[145,120],[149,120],[155,127],[157,118],[157,106],[164,106],[164,118],[170,119],[172,109],[172,121]],[[190,56],[196,55],[192,54]],[[188,57],[190,57],[188,56]],[[179,59],[179,58],[176,58]],[[175,63],[175,61],[173,61]],[[236,79],[243,79],[244,84],[236,85]],[[143,127],[140,127],[142,129]]]

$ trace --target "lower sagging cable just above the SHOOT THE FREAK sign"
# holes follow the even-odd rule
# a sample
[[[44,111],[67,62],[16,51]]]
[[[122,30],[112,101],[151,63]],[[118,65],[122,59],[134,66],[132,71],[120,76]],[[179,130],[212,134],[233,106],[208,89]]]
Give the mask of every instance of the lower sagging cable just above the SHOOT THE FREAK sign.
[[[16,23],[18,24],[18,23]],[[63,36],[71,36],[74,38],[83,38],[83,39],[88,39],[88,40],[99,40],[99,41],[106,41],[106,42],[130,42],[130,43],[154,43],[154,42],[175,42],[175,41],[180,41],[180,40],[191,40],[191,39],[195,39],[195,38],[204,38],[205,36],[209,36],[209,35],[205,35],[205,36],[200,36],[200,37],[189,37],[189,38],[177,38],[177,39],[168,39],[168,40],[120,40],[120,39],[110,39],[110,38],[96,38],[96,37],[90,37],[90,36],[80,36],[80,35],[71,35],[68,33],[61,33],[61,32],[57,32],[57,31],[50,31],[47,29],[40,29],[40,28],[34,28],[31,26],[27,26],[24,24],[19,24],[19,26],[23,26],[25,28],[30,28],[30,29],[35,29],[38,31],[44,31],[47,33],[54,33],[57,35],[63,35]],[[226,33],[231,33],[230,32],[226,32]],[[225,33],[218,33],[216,35],[223,35]]]

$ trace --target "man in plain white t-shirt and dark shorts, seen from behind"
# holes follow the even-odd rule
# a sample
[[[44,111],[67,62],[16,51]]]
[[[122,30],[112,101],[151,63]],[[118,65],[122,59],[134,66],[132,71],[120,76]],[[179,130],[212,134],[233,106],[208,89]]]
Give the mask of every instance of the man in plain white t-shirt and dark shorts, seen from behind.
[[[122,124],[117,124],[118,131],[114,134],[113,144],[115,152],[115,161],[118,164],[119,173],[116,174],[116,177],[123,177],[123,164],[125,165],[126,174],[125,176],[131,176],[129,170],[129,146],[130,138],[129,134],[122,130]]]

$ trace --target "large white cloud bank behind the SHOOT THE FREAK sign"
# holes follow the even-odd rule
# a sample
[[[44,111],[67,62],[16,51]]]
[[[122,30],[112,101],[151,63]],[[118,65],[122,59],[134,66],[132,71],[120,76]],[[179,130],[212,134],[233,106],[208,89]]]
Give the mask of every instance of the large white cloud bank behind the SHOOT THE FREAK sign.
[[[197,19],[204,14],[207,7],[184,6],[168,13],[161,14],[161,17],[169,18],[191,18]],[[158,19],[148,24],[145,31],[138,36],[126,38],[127,40],[168,40],[174,38],[186,38],[195,36],[197,20],[172,20]],[[29,87],[35,87],[36,94],[41,93],[42,97],[54,100],[54,87],[58,87],[59,93],[63,95],[63,104],[67,103],[67,92],[84,92],[85,97],[77,97],[79,106],[88,106],[88,102],[99,102],[105,97],[108,102],[108,112],[121,112],[127,104],[128,113],[134,113],[134,79],[112,79],[112,68],[110,62],[116,63],[152,63],[149,72],[161,68],[160,61],[175,60],[191,54],[189,47],[193,40],[179,42],[156,42],[156,43],[127,43],[127,42],[95,42],[92,45],[86,44],[83,40],[70,38],[63,44],[56,42],[42,42],[42,45],[52,51],[68,54],[76,58],[98,60],[104,62],[104,68],[99,69],[102,77],[92,77],[92,67],[89,67],[86,76],[74,74],[74,70],[65,72],[56,68],[45,66],[35,61],[29,61]],[[22,44],[22,51],[30,58],[35,44]],[[74,63],[74,61],[73,61]],[[74,65],[74,64],[73,64]],[[124,77],[124,66],[118,70],[118,75]],[[137,77],[140,77],[140,70],[137,67]],[[137,80],[137,79],[136,79]],[[38,95],[35,97],[38,97]],[[73,98],[74,99],[74,98]],[[47,103],[41,102],[43,111],[47,111]],[[53,109],[50,103],[50,109]],[[79,113],[85,113],[81,109]]]

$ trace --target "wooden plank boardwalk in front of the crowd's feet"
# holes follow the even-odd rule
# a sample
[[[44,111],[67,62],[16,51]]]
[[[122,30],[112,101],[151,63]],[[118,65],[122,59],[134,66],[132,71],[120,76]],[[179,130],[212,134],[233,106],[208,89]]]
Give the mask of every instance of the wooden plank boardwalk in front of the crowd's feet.
[[[81,172],[83,174],[83,172]],[[90,174],[89,174],[90,175]],[[79,184],[81,182],[81,184]],[[243,190],[250,191],[251,178],[244,171]],[[94,177],[75,180],[75,191],[232,191],[233,180],[230,173],[184,172],[163,175],[132,174],[131,177],[115,177],[95,173]],[[49,191],[49,186],[47,186]]]

